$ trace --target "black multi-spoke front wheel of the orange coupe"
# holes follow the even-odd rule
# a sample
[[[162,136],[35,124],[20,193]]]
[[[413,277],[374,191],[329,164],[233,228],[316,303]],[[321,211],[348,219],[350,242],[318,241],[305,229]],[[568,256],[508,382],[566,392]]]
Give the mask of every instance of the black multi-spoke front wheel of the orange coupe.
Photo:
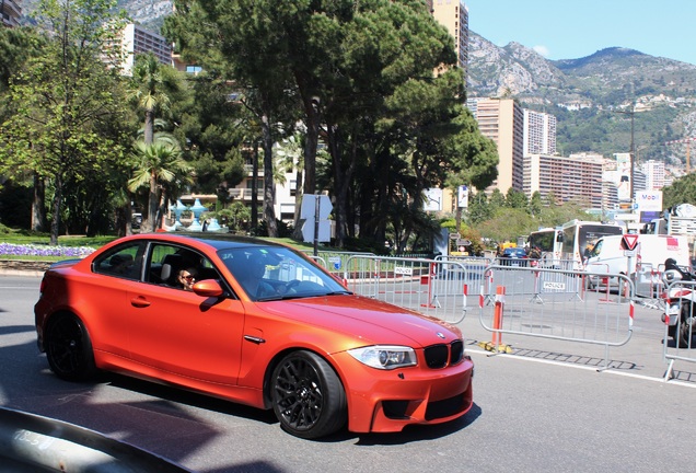
[[[295,437],[324,437],[346,424],[344,387],[316,354],[294,351],[286,356],[274,369],[270,390],[280,426]]]

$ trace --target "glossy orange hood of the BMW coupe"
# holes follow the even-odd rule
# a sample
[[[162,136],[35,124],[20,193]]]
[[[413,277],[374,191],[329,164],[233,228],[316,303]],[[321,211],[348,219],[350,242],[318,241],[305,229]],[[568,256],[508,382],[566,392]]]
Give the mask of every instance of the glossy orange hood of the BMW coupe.
[[[359,338],[361,344],[426,347],[461,338],[439,319],[362,296],[327,296],[260,302],[264,312]]]

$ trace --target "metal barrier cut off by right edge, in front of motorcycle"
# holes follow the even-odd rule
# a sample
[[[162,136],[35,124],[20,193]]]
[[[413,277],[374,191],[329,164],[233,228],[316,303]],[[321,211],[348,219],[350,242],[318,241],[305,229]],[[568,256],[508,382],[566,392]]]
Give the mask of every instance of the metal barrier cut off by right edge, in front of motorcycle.
[[[696,313],[694,313],[694,302],[696,302],[696,281],[674,281],[666,287],[666,293],[672,296],[672,304],[676,305],[674,314],[666,311],[664,318],[664,339],[662,350],[668,369],[664,380],[668,381],[674,376],[675,361],[696,362],[696,342],[694,331],[696,331]],[[692,302],[694,301],[694,302]],[[675,321],[676,319],[676,321]],[[672,324],[670,324],[672,322]]]

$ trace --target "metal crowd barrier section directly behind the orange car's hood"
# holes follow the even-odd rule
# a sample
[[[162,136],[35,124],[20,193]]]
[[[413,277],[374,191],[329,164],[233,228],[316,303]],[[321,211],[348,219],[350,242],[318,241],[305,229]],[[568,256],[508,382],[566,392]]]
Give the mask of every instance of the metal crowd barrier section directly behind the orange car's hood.
[[[459,262],[353,255],[343,278],[348,289],[453,324],[466,316],[468,280]]]

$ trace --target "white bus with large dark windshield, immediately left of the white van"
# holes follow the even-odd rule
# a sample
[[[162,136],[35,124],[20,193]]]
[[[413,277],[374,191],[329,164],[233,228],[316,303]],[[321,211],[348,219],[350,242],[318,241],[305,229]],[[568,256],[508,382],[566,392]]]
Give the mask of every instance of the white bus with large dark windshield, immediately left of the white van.
[[[618,223],[571,220],[561,226],[561,259],[571,262],[568,269],[580,270],[594,243],[607,235],[624,234],[626,229]]]

